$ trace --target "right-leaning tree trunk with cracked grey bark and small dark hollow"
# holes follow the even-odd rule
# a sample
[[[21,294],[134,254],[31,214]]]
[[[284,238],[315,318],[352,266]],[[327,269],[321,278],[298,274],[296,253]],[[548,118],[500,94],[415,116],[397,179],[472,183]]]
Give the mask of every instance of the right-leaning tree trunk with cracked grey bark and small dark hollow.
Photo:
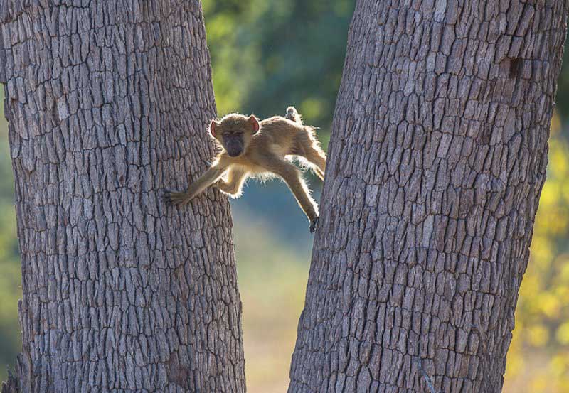
[[[356,5],[289,392],[500,392],[567,1]]]

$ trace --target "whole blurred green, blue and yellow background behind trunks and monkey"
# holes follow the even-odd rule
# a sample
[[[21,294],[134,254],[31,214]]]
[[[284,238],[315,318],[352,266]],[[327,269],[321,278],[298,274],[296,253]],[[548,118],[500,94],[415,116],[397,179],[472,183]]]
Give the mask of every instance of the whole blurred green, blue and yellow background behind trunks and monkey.
[[[327,147],[354,0],[203,0],[218,113],[294,104]],[[548,180],[521,286],[504,392],[569,392],[569,50],[551,124]],[[4,97],[0,97],[4,102]],[[1,105],[0,108],[4,106]],[[1,110],[1,109],[0,109]],[[309,182],[319,199],[321,183]],[[0,379],[20,343],[20,262],[7,125],[0,115]],[[312,236],[279,181],[232,200],[248,391],[286,392]],[[279,206],[279,208],[275,208]]]

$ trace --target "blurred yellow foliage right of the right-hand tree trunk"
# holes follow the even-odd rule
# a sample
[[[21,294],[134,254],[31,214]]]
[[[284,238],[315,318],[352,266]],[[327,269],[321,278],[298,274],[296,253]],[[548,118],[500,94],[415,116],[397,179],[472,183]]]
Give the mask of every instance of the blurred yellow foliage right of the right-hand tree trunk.
[[[569,145],[555,114],[504,392],[569,392],[568,222]]]

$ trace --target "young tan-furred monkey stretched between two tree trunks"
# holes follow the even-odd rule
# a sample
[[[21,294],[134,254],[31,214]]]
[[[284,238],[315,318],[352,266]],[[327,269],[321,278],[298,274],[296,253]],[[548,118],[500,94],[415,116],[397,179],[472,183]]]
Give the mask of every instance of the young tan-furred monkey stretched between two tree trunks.
[[[219,142],[221,151],[211,168],[184,193],[166,192],[166,200],[173,205],[183,205],[203,192],[210,185],[235,198],[241,195],[243,183],[248,177],[265,178],[280,176],[297,198],[314,230],[318,219],[318,207],[299,171],[289,158],[296,156],[304,165],[324,180],[326,154],[322,151],[314,128],[304,126],[302,117],[294,107],[287,109],[287,117],[270,117],[258,122],[253,116],[228,114],[219,122],[212,122],[211,134]],[[255,123],[259,131],[255,132]],[[213,132],[215,129],[215,132]],[[235,134],[234,134],[235,133]],[[243,137],[243,152],[231,157],[226,149],[225,138]],[[230,150],[231,151],[231,150]]]

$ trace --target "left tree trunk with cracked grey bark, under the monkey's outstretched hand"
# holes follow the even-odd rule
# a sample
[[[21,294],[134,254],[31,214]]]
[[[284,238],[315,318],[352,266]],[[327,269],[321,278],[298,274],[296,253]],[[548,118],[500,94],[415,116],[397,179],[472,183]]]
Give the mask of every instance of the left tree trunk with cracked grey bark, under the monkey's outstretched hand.
[[[214,150],[199,1],[0,1],[21,392],[244,392],[228,201],[166,208]]]

